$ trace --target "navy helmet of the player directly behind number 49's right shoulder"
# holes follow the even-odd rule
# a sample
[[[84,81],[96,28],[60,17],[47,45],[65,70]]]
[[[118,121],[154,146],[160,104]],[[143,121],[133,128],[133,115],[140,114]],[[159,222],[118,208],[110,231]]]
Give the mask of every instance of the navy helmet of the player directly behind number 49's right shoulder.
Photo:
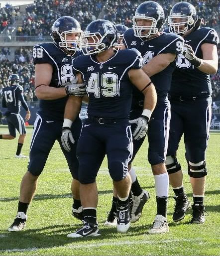
[[[150,26],[138,26],[137,19],[152,20]],[[133,30],[137,37],[148,38],[152,34],[157,34],[163,27],[165,14],[162,6],[155,1],[145,1],[141,3],[133,16]],[[145,33],[148,31],[148,33]]]

